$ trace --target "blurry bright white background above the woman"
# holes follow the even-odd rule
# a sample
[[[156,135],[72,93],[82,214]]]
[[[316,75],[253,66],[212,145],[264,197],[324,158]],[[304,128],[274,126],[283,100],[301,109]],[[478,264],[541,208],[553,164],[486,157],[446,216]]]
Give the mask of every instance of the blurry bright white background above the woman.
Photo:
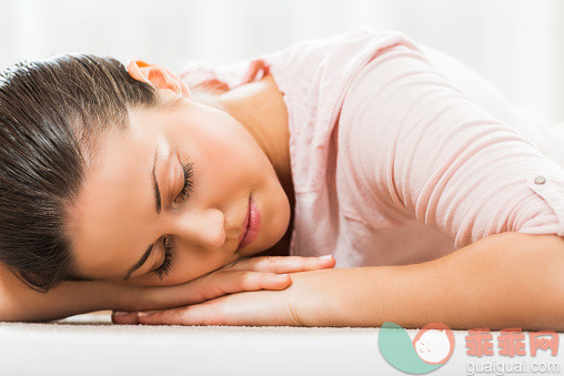
[[[0,69],[53,53],[248,59],[355,27],[397,29],[491,81],[513,103],[564,121],[561,0],[0,0]]]

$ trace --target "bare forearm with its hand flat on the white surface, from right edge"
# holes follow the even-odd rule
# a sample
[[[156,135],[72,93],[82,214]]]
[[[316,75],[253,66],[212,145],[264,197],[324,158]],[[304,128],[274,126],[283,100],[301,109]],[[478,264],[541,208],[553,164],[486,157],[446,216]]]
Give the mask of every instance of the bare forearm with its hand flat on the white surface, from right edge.
[[[563,267],[561,236],[505,232],[426,263],[298,272],[281,291],[114,314],[112,321],[298,326],[381,326],[392,321],[405,328],[435,322],[452,329],[563,331]]]

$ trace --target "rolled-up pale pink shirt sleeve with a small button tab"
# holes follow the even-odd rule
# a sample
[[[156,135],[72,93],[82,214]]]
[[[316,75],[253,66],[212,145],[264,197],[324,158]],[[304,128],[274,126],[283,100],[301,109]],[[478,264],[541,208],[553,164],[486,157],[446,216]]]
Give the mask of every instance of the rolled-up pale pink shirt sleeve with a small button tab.
[[[359,190],[456,248],[501,232],[564,236],[564,169],[422,51],[374,58],[352,81],[340,132]]]

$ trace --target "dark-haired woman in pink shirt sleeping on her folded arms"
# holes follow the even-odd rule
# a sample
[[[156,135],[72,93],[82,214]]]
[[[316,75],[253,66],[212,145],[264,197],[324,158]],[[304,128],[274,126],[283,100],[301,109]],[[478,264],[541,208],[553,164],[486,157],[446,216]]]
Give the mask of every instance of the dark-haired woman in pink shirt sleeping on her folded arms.
[[[359,29],[192,85],[94,57],[9,70],[2,262],[67,314],[178,307],[115,323],[564,327],[562,166],[432,53]]]

